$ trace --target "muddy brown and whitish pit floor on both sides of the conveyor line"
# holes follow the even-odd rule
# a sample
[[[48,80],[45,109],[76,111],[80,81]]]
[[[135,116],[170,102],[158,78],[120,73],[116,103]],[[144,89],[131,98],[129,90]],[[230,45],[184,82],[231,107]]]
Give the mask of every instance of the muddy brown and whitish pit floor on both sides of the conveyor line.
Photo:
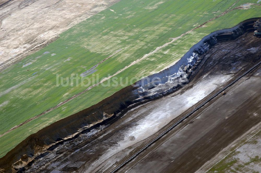
[[[84,137],[64,143],[20,171],[112,171],[184,113],[252,67],[260,58],[260,47],[260,39],[248,33],[234,41],[218,43],[201,55],[208,58],[185,87],[128,111],[108,127],[101,127],[102,131],[94,129]],[[259,76],[248,77],[173,129],[121,171],[194,172],[199,169],[261,121],[258,107],[261,80]]]

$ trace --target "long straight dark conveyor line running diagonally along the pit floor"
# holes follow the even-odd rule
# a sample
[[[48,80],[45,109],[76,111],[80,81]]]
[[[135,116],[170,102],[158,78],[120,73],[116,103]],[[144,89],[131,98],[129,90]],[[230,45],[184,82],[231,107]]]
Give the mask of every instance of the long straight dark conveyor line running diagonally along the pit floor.
[[[118,170],[120,170],[124,165],[126,165],[127,163],[131,162],[135,157],[137,157],[140,153],[142,153],[143,151],[145,151],[148,147],[150,147],[152,144],[154,144],[156,141],[158,141],[159,139],[161,139],[164,135],[166,135],[168,132],[170,132],[173,128],[177,127],[178,125],[180,125],[184,120],[188,119],[192,114],[194,114],[195,112],[197,112],[200,108],[202,108],[203,106],[205,106],[207,103],[209,103],[211,100],[213,100],[214,98],[216,98],[218,95],[220,95],[223,91],[225,91],[226,89],[228,89],[229,87],[231,87],[232,85],[234,85],[236,82],[238,82],[242,77],[246,76],[248,73],[252,72],[253,70],[255,70],[259,65],[261,64],[261,61],[259,61],[256,65],[254,65],[253,67],[251,67],[250,69],[248,69],[245,73],[243,73],[241,76],[239,76],[238,78],[236,78],[234,81],[232,81],[231,83],[229,83],[228,85],[226,85],[223,89],[221,89],[220,91],[216,92],[216,94],[214,94],[213,96],[211,96],[210,98],[208,98],[205,102],[203,102],[202,104],[200,104],[198,107],[196,107],[195,109],[193,109],[190,113],[188,113],[187,115],[185,115],[183,118],[181,118],[179,121],[177,121],[176,123],[174,123],[171,127],[169,127],[167,130],[165,130],[164,132],[162,132],[160,135],[158,135],[158,137],[156,137],[155,139],[153,139],[149,144],[147,144],[146,146],[144,146],[142,149],[140,149],[137,153],[135,153],[134,155],[132,155],[129,159],[127,159],[125,162],[123,162],[122,164],[120,164],[117,168],[115,168],[113,171],[111,171],[111,173],[115,173]]]

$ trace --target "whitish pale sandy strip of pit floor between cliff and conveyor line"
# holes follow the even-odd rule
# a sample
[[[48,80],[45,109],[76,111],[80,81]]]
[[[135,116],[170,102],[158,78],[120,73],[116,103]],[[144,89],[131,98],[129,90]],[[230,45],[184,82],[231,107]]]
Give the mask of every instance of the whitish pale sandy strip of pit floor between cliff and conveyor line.
[[[183,93],[170,95],[157,102],[152,101],[133,109],[112,125],[114,126],[113,130],[105,132],[100,139],[97,139],[102,140],[100,143],[96,143],[97,140],[95,140],[80,149],[73,149],[74,151],[70,156],[65,158],[62,156],[63,160],[60,160],[60,158],[57,158],[56,161],[53,160],[52,164],[48,168],[45,167],[44,170],[58,171],[67,167],[81,167],[78,170],[79,172],[102,172],[104,171],[103,167],[112,166],[114,163],[107,159],[112,157],[120,160],[125,156],[125,152],[118,155],[118,151],[126,151],[125,149],[130,147],[126,151],[129,153],[133,146],[139,145],[139,142],[157,133],[171,120],[202,100],[219,84],[223,84],[230,78],[231,75],[207,75],[202,81],[197,82],[193,88],[187,89]],[[205,85],[208,85],[209,88],[204,89]],[[89,159],[90,157],[92,159]],[[40,172],[42,171],[40,169]]]

